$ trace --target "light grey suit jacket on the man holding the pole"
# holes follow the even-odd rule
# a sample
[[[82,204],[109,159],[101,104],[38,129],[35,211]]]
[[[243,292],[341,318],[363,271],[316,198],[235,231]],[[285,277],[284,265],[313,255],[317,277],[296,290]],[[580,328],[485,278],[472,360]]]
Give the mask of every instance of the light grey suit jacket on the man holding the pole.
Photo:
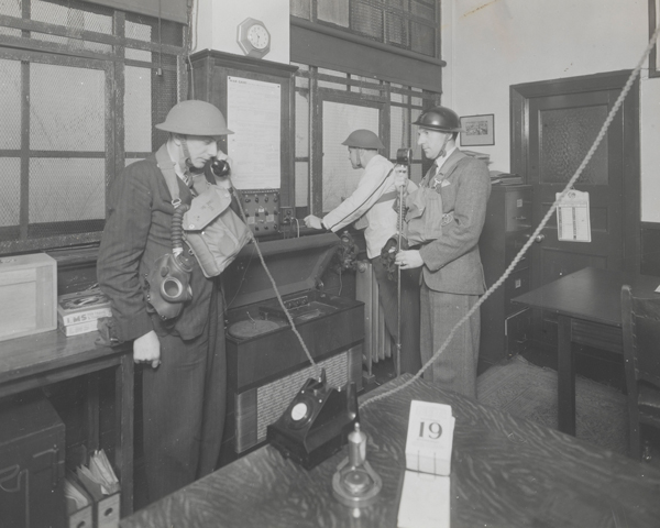
[[[485,280],[477,244],[491,196],[491,176],[484,162],[458,148],[446,163],[457,156],[463,160],[438,185],[442,211],[453,212],[453,220],[442,227],[442,237],[419,250],[425,264],[422,279],[436,292],[481,295]]]

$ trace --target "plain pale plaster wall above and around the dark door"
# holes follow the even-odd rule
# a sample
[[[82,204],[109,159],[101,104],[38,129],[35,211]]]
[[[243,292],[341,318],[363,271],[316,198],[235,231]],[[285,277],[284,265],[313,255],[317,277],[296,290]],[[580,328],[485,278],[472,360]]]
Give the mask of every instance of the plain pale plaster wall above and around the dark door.
[[[444,105],[495,114],[491,168],[508,170],[509,86],[634,69],[648,0],[442,0]],[[446,31],[451,26],[449,31]],[[660,222],[660,78],[641,72],[641,220]]]

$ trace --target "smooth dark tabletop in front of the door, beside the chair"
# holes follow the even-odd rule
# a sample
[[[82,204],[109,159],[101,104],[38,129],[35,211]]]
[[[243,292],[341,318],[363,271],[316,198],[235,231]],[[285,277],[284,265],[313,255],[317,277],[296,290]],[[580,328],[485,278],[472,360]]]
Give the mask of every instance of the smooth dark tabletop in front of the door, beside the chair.
[[[622,326],[622,286],[636,294],[653,294],[660,277],[585,267],[512,299],[534,308],[604,324]]]

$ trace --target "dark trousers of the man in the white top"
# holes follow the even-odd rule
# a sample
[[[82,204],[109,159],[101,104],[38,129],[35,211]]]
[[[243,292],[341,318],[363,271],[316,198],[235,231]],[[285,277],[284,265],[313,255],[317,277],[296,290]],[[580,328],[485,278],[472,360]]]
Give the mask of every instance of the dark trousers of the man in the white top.
[[[397,340],[398,293],[397,284],[387,278],[387,270],[381,257],[371,258],[378,282],[378,297],[385,326],[389,334]],[[419,355],[419,274],[418,270],[402,270],[402,372],[416,374],[421,369]]]

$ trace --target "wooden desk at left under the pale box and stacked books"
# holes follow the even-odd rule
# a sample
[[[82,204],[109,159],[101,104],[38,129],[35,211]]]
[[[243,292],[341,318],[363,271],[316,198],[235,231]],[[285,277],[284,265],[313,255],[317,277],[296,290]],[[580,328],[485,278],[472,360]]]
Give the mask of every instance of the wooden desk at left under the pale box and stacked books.
[[[0,343],[0,397],[43,387],[51,383],[114,369],[116,449],[114,469],[121,483],[121,513],[133,512],[133,354],[122,346],[96,346],[97,332],[67,338],[58,331],[44,332]],[[90,381],[94,395],[95,381]],[[98,387],[96,387],[98,389]],[[96,416],[88,414],[88,432],[98,435]],[[95,424],[96,420],[96,424]],[[90,439],[90,449],[98,439]]]

